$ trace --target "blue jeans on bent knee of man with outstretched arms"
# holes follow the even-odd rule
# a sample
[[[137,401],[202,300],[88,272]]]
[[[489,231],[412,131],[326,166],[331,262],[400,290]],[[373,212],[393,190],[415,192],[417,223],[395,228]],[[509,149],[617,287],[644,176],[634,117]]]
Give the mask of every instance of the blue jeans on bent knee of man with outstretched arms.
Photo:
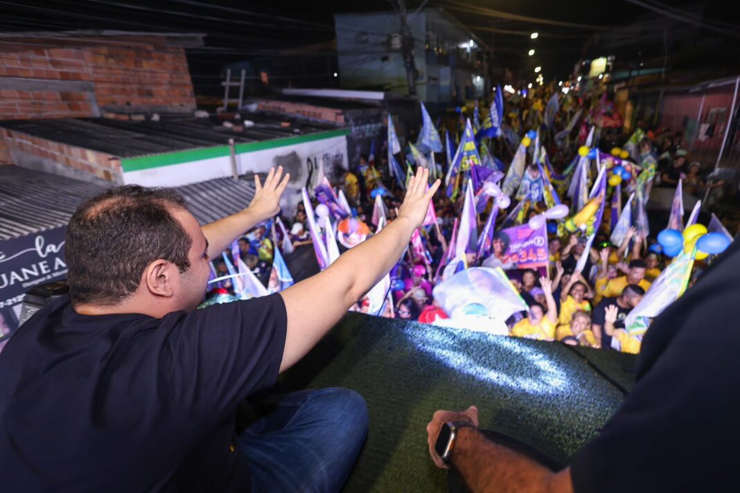
[[[365,443],[368,413],[352,390],[260,398],[266,414],[238,436],[253,492],[338,492]]]

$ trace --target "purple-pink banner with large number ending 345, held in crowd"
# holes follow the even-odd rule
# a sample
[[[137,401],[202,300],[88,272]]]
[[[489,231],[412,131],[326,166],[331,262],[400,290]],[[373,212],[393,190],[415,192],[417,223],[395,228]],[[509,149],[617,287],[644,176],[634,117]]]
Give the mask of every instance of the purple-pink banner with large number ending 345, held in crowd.
[[[534,230],[528,225],[521,225],[500,231],[496,236],[505,245],[508,244],[501,258],[504,264],[514,269],[544,268],[546,272],[549,260],[547,225]]]

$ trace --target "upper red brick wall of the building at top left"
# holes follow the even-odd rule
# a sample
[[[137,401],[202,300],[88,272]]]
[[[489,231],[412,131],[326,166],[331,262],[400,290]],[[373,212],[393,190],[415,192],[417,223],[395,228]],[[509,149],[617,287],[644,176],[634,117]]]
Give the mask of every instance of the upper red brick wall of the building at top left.
[[[0,120],[193,110],[183,47],[0,48]]]

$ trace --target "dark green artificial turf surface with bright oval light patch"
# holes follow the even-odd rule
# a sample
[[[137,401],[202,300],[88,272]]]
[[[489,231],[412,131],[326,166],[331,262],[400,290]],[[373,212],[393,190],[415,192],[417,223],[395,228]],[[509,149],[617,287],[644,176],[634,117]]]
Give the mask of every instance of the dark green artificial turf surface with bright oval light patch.
[[[366,399],[369,434],[346,492],[445,492],[446,473],[432,465],[426,443],[435,410],[476,404],[483,428],[565,461],[622,403],[619,387],[631,387],[634,362],[614,352],[349,313],[278,386],[347,387]]]

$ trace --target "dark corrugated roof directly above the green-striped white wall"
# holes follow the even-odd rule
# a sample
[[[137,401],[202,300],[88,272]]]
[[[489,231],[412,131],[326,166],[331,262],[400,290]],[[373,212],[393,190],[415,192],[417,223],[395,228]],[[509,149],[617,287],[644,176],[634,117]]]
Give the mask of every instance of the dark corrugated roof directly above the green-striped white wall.
[[[58,118],[51,120],[3,120],[0,127],[33,137],[104,152],[115,157],[184,151],[235,143],[258,142],[337,129],[337,126],[267,115],[245,116],[255,123],[234,132],[208,118],[163,118],[160,121],[115,120],[112,118]],[[290,123],[282,126],[281,121]],[[238,121],[234,122],[238,125]]]

